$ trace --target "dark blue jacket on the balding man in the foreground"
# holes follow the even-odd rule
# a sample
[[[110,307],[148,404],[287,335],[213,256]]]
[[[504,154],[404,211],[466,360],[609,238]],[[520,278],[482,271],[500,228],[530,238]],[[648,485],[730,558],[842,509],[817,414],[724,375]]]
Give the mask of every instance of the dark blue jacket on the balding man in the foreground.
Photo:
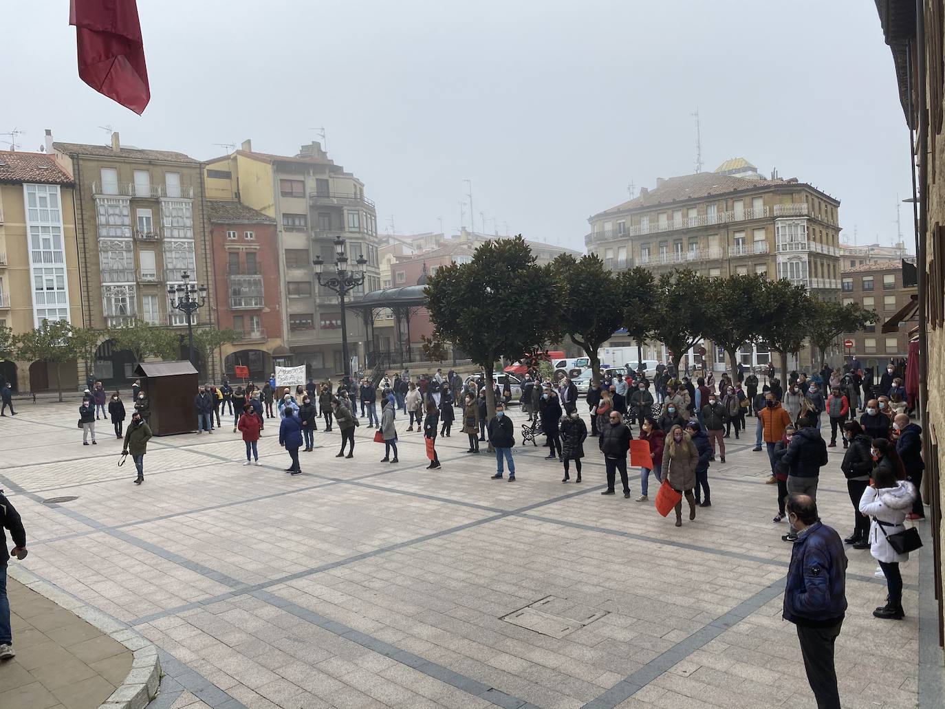
[[[804,529],[791,549],[783,618],[795,625],[825,627],[847,612],[847,554],[843,540],[820,520]]]

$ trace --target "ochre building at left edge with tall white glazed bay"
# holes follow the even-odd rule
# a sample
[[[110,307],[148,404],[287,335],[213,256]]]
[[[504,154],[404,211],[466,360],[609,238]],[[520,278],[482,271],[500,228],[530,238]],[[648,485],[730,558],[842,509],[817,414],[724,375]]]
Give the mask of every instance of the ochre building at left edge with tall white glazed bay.
[[[75,182],[52,156],[0,151],[0,326],[22,335],[43,320],[82,323]],[[0,361],[14,391],[56,388],[55,366]],[[75,365],[60,367],[63,389]]]

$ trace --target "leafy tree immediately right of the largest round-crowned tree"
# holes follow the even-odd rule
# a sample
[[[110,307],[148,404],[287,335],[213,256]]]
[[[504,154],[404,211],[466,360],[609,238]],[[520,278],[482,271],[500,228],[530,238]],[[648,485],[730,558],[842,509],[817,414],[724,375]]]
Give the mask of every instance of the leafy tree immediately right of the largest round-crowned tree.
[[[604,268],[595,253],[576,259],[562,253],[553,263],[558,278],[560,326],[591,359],[593,380],[600,381],[597,351],[624,320],[626,289],[621,276]]]

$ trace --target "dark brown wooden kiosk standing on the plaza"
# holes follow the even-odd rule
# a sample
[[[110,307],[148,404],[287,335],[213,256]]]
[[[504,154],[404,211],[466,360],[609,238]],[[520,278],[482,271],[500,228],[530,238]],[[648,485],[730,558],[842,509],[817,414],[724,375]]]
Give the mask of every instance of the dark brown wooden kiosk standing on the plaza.
[[[198,372],[194,365],[178,362],[142,362],[134,370],[141,379],[141,390],[150,403],[148,423],[155,436],[193,433],[197,430]]]

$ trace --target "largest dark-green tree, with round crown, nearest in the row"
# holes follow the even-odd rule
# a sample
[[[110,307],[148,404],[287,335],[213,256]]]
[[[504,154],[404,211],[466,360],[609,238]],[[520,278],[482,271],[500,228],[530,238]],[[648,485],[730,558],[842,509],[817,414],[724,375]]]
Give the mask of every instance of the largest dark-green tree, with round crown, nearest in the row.
[[[495,414],[492,363],[520,359],[561,337],[558,279],[537,266],[522,235],[479,246],[468,264],[438,268],[424,293],[434,337],[452,342],[483,368]]]

